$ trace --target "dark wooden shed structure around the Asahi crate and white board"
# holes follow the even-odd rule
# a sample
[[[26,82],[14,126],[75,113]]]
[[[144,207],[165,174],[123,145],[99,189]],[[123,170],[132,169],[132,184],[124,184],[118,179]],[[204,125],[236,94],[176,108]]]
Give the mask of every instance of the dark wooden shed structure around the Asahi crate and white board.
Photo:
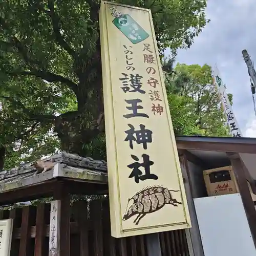
[[[190,217],[193,227],[189,231],[193,243],[194,255],[204,255],[201,242],[202,238],[198,228],[198,216],[195,210],[195,199],[207,197],[203,179],[203,170],[206,169],[223,166],[232,167],[255,244],[256,211],[250,189],[255,194],[256,139],[177,136],[176,143],[190,207]],[[248,183],[250,186],[248,186]],[[254,251],[255,253],[256,251]]]

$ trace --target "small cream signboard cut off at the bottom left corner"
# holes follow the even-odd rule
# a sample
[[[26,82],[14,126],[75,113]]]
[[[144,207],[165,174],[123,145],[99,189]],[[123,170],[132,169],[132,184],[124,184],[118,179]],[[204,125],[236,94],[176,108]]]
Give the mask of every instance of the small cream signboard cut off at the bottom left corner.
[[[1,220],[0,221],[0,255],[9,256],[11,250],[12,241],[12,226],[13,220]]]

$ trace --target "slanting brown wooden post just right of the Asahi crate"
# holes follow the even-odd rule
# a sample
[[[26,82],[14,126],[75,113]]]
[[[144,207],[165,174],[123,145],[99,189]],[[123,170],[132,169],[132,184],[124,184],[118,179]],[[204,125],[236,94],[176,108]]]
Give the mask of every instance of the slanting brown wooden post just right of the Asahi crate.
[[[243,168],[246,168],[246,166],[245,165],[243,166],[242,161],[239,157],[239,154],[227,153],[227,156],[231,161],[231,164],[234,170],[234,175],[236,176],[236,179],[237,179],[237,184],[238,184],[240,195],[243,201],[244,209],[247,215],[252,238],[254,241],[254,245],[256,246],[256,211],[251,198],[245,172],[243,170]]]

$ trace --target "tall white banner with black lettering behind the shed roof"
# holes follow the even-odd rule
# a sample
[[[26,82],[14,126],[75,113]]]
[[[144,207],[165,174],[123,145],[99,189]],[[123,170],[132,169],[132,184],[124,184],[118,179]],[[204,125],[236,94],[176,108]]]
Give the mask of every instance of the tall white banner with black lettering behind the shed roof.
[[[239,125],[237,122],[236,117],[234,116],[232,106],[230,104],[230,101],[228,99],[228,95],[226,93],[226,88],[224,87],[224,84],[222,82],[222,79],[220,77],[220,72],[217,68],[217,66],[214,67],[212,70],[212,74],[214,77],[214,84],[216,87],[216,90],[218,91],[219,99],[222,105],[222,109],[224,111],[224,115],[227,120],[227,125],[229,127],[230,134],[233,137],[243,137],[241,130],[239,129]]]

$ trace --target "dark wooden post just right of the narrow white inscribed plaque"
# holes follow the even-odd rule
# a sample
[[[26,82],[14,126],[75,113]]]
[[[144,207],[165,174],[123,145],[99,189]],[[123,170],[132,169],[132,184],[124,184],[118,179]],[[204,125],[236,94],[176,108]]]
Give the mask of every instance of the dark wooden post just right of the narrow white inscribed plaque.
[[[70,256],[70,198],[60,200],[59,248],[61,256]]]

